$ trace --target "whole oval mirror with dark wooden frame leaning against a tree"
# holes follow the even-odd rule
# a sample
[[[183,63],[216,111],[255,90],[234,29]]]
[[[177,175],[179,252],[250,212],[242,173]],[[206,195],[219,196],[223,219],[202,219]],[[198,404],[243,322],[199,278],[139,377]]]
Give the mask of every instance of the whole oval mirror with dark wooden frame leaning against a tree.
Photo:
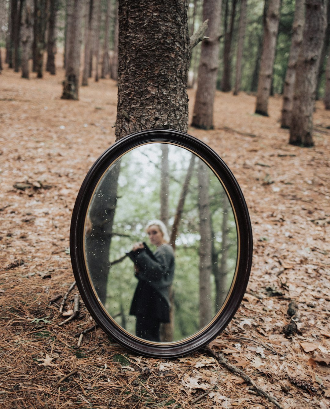
[[[251,224],[211,148],[178,131],[141,131],[90,169],[70,251],[101,328],[137,353],[175,357],[209,343],[235,314],[251,268]]]

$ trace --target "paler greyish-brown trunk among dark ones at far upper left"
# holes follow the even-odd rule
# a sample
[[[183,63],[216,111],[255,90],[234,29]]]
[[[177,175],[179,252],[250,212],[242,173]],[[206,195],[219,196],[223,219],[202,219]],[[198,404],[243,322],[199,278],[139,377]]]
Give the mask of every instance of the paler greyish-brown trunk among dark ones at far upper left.
[[[33,38],[33,1],[25,0],[22,12],[22,78],[29,79],[29,59]]]

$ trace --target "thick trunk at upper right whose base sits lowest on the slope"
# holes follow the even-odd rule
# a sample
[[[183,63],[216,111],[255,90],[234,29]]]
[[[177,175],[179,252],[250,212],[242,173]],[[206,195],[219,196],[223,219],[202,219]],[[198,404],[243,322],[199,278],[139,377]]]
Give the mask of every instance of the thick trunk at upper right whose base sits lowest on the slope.
[[[326,1],[306,0],[305,4],[305,27],[296,67],[289,143],[313,146],[313,110],[326,29]]]

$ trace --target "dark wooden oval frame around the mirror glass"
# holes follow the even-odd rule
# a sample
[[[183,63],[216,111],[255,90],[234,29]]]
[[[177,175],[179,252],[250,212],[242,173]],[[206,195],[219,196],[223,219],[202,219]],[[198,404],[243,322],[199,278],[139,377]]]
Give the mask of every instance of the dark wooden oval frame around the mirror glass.
[[[238,234],[238,259],[236,272],[226,301],[211,322],[197,333],[177,342],[156,343],[145,341],[123,330],[99,302],[90,281],[84,256],[85,218],[90,200],[104,172],[115,160],[138,146],[150,143],[167,143],[191,151],[216,173],[229,196],[236,218]],[[252,230],[240,187],[222,159],[199,139],[185,133],[168,130],[144,130],[129,135],[108,148],[93,164],[85,177],[74,205],[70,229],[70,254],[76,283],[94,320],[99,326],[126,348],[151,357],[179,357],[196,351],[216,338],[235,315],[245,294],[252,262]]]

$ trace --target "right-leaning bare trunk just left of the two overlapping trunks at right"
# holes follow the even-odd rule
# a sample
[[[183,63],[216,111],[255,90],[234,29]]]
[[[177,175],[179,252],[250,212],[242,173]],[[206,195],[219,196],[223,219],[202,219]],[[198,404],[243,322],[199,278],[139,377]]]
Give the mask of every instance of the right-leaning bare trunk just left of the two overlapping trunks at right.
[[[267,5],[266,5],[267,4]],[[272,85],[281,0],[266,0],[263,25],[263,52],[258,79],[256,114],[268,116],[268,98]]]

